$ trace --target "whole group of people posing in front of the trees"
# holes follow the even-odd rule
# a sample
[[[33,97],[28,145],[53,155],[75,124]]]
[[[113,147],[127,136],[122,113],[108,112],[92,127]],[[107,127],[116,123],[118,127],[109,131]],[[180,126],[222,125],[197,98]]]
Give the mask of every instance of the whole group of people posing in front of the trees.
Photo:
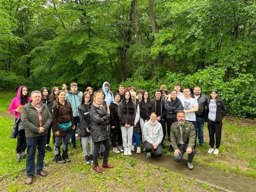
[[[103,158],[102,167],[113,168],[108,163],[111,146],[114,153],[132,155],[136,148],[138,154],[141,150],[146,151],[146,158],[160,157],[166,148],[167,134],[169,151],[174,151],[175,161],[182,161],[183,154],[188,154],[188,168],[192,170],[196,138],[199,145],[204,145],[205,122],[211,147],[208,153],[219,153],[222,117],[226,109],[218,91],[211,90],[207,98],[199,86],[193,88],[191,94],[190,88],[180,92],[179,83],[169,92],[166,85],[161,85],[150,100],[148,91],[136,92],[134,87],[120,85],[114,94],[109,82],[104,82],[98,91],[87,87],[85,92],[78,92],[77,83],[71,82],[70,90],[66,84],[61,90],[52,88],[51,93],[42,87],[41,91],[32,91],[31,97],[28,97],[28,87],[22,85],[9,105],[9,112],[15,115],[11,137],[17,137],[17,160],[26,157],[27,148],[26,182],[32,184],[35,173],[47,176],[42,168],[45,150],[52,150],[49,145],[51,130],[57,163],[71,161],[68,145],[71,141],[72,147],[77,147],[77,134],[86,164],[93,163],[93,170],[98,173],[103,171],[98,158]]]

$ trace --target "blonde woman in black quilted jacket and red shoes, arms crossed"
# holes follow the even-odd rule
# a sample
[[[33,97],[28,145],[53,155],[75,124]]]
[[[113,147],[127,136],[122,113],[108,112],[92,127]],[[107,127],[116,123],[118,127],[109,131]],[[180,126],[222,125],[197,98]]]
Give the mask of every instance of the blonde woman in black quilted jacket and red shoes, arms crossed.
[[[110,151],[109,132],[107,131],[107,125],[109,125],[110,122],[110,114],[107,113],[106,108],[103,107],[103,95],[101,92],[94,94],[93,104],[91,104],[89,114],[91,117],[91,138],[94,143],[93,170],[101,173],[103,170],[98,164],[98,154],[100,152],[101,143],[103,143],[105,147],[102,167],[113,168],[113,166],[107,162]]]

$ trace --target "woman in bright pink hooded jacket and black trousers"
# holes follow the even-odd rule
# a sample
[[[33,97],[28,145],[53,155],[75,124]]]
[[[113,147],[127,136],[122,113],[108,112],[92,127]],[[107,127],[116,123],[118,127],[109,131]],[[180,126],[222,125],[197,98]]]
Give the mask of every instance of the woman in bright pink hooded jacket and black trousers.
[[[17,92],[17,97],[13,98],[11,101],[11,104],[9,105],[9,113],[15,115],[15,120],[20,121],[19,116],[21,115],[22,107],[29,103],[31,101],[31,97],[28,97],[28,87],[25,85],[22,85],[19,87]],[[17,161],[21,161],[22,158],[25,158],[26,155],[24,151],[27,148],[26,144],[26,137],[25,137],[25,130],[22,128],[23,126],[19,125],[21,123],[18,123],[18,134],[17,134]]]

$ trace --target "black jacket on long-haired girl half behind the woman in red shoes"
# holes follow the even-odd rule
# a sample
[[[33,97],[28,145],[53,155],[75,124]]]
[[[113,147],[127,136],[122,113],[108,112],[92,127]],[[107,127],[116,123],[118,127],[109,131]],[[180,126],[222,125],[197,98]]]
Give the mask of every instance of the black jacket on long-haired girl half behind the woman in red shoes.
[[[88,137],[90,135],[90,132],[86,131],[86,128],[88,128],[88,130],[91,129],[90,125],[91,125],[91,117],[89,114],[89,110],[91,108],[91,104],[93,102],[89,102],[88,104],[82,104],[79,105],[77,107],[78,110],[78,114],[79,114],[79,127],[81,130],[81,137]]]

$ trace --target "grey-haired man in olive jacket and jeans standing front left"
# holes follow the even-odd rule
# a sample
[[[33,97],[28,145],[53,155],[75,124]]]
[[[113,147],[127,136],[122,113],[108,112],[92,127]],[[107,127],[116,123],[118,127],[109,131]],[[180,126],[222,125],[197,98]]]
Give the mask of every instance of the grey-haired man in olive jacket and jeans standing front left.
[[[35,151],[37,150],[37,174],[45,177],[44,167],[45,145],[48,127],[51,124],[51,114],[46,104],[41,103],[41,92],[32,91],[32,102],[24,105],[21,112],[21,121],[25,128],[27,142],[27,184],[32,184],[35,174]]]

